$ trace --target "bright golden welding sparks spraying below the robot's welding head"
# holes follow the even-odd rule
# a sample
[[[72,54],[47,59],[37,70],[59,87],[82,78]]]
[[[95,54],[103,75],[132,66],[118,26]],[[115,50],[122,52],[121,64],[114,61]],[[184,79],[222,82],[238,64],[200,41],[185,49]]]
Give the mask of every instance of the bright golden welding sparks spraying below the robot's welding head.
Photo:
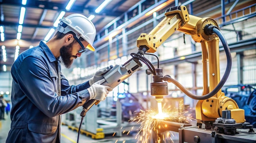
[[[160,110],[159,110],[160,109]],[[162,111],[162,112],[161,112]],[[164,141],[165,143],[173,143],[171,139],[171,134],[168,131],[168,127],[165,121],[174,121],[179,123],[189,123],[190,117],[184,116],[184,112],[180,108],[175,111],[171,111],[171,108],[162,108],[162,104],[158,104],[157,110],[146,110],[141,111],[133,122],[141,124],[139,127],[139,132],[135,136],[137,143],[148,143],[151,140],[151,136],[157,134],[157,141]],[[173,134],[172,134],[173,135]],[[174,135],[173,135],[174,136]]]

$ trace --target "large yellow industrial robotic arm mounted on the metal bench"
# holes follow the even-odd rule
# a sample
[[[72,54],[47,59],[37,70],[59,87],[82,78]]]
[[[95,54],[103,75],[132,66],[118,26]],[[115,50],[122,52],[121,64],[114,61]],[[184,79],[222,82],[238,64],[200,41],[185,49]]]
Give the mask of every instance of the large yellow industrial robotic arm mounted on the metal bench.
[[[212,33],[211,30],[212,27],[218,28],[217,22],[212,18],[200,18],[189,15],[186,6],[171,7],[166,10],[165,16],[166,17],[150,33],[142,33],[139,36],[137,39],[137,47],[146,46],[148,47],[147,52],[154,53],[176,30],[191,35],[194,41],[201,43],[202,47],[202,96],[189,93],[176,80],[168,76],[165,76],[163,79],[168,82],[173,82],[173,84],[179,87],[186,95],[199,100],[195,111],[196,119],[199,124],[204,123],[206,128],[208,126],[210,128],[210,125],[216,118],[222,117],[222,111],[225,110],[231,111],[231,118],[235,119],[236,123],[245,122],[244,110],[239,109],[236,102],[226,97],[225,94],[221,92],[221,89],[216,91],[216,86],[218,86],[220,82],[219,37],[215,33]],[[159,80],[157,82],[159,82]],[[157,87],[151,87],[151,95],[155,95],[159,100],[159,95],[162,94],[152,93],[152,89],[153,91],[157,91],[154,90],[154,88]],[[214,95],[209,97],[208,94],[212,92],[214,92]],[[160,96],[160,98],[163,98],[163,95]]]

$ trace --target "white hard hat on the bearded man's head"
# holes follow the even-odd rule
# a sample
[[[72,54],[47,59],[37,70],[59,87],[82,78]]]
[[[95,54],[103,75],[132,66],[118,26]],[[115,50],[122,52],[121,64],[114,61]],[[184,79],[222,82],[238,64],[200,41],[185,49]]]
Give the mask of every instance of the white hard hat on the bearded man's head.
[[[70,31],[74,32],[78,39],[82,37],[89,43],[86,48],[91,51],[95,51],[92,43],[94,42],[96,36],[96,28],[94,24],[84,15],[76,13],[63,17],[63,19],[60,19],[60,23],[56,29],[64,34]]]

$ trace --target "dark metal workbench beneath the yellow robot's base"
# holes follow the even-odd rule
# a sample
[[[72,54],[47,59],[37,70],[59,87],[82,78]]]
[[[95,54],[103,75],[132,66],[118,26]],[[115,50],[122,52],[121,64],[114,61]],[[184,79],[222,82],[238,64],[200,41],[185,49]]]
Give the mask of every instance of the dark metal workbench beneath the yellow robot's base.
[[[256,134],[238,129],[239,134],[219,134],[211,129],[184,127],[179,129],[179,143],[256,143]]]

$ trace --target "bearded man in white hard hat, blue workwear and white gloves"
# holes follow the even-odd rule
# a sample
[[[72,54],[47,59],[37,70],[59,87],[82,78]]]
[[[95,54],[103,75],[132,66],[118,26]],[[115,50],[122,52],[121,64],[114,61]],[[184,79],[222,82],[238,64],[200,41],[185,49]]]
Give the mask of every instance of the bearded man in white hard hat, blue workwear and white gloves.
[[[112,88],[101,85],[99,70],[87,82],[69,85],[61,73],[60,59],[70,68],[85,47],[94,51],[96,30],[87,17],[72,14],[60,20],[47,43],[22,52],[11,67],[11,130],[7,143],[59,143],[61,114],[91,99],[105,100]]]

